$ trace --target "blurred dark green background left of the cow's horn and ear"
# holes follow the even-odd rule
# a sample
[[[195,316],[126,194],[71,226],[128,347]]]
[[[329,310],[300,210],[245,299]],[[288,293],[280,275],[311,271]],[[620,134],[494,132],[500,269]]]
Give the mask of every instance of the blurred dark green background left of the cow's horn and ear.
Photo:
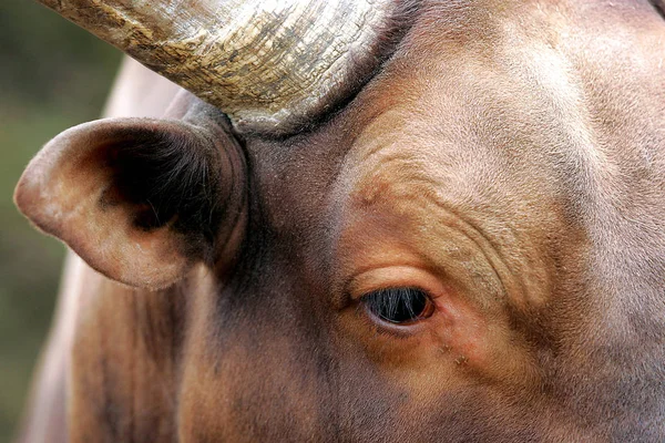
[[[0,1],[0,442],[18,424],[64,257],[19,215],[13,187],[49,138],[99,117],[120,58],[34,1]]]

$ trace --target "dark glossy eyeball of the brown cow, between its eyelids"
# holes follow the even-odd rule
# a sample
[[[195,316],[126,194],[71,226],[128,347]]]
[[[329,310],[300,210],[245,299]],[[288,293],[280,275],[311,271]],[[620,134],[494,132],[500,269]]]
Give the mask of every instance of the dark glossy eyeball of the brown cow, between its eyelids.
[[[362,301],[381,320],[405,323],[422,316],[429,298],[417,288],[388,288],[369,292],[362,297]]]

